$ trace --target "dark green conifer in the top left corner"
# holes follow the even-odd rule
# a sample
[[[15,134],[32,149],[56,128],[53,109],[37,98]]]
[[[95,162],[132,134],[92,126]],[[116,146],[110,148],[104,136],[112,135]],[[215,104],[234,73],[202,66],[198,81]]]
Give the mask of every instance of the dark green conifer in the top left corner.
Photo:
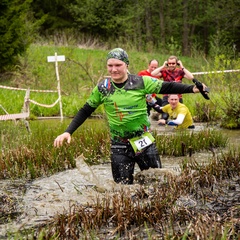
[[[37,24],[31,14],[31,2],[9,0],[0,3],[0,72],[13,66],[34,39]]]

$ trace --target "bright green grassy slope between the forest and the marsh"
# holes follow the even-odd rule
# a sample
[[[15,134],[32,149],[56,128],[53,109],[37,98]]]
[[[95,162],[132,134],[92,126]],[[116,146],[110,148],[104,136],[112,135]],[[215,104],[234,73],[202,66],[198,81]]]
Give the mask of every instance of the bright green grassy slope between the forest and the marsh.
[[[167,55],[157,53],[144,53],[126,49],[129,55],[129,71],[137,74],[146,69],[150,59],[157,59],[161,65]],[[11,75],[1,79],[1,85],[15,88],[30,89],[30,99],[38,104],[30,103],[31,118],[59,116],[59,104],[46,108],[40,104],[52,105],[58,99],[58,93],[35,92],[34,90],[57,91],[56,68],[54,62],[47,62],[48,56],[64,55],[66,61],[58,62],[60,89],[62,97],[63,115],[74,116],[83,106],[92,88],[107,75],[106,72],[106,49],[84,49],[76,46],[50,46],[33,44],[25,56],[22,56],[19,65]],[[172,55],[174,53],[170,53]],[[199,54],[197,57],[181,57],[179,59],[191,72],[217,71],[225,69],[240,69],[240,62],[228,60],[224,56],[216,56],[215,59],[206,59]],[[11,76],[11,77],[10,77]],[[237,86],[240,72],[196,75],[196,78],[210,89],[211,101],[206,101],[200,94],[184,95],[184,103],[189,107],[194,116],[218,120],[222,116],[225,105],[231,105],[231,98],[238,95]],[[184,79],[184,83],[192,84]],[[8,113],[21,112],[24,102],[25,91],[2,89],[0,91],[0,104]],[[226,102],[226,96],[227,99]],[[236,103],[237,107],[238,102]],[[236,107],[234,102],[234,106]],[[208,116],[203,115],[207,113]],[[5,114],[0,108],[0,114]],[[103,114],[99,108],[96,114]],[[209,116],[211,115],[211,116]],[[201,119],[200,119],[201,120]]]

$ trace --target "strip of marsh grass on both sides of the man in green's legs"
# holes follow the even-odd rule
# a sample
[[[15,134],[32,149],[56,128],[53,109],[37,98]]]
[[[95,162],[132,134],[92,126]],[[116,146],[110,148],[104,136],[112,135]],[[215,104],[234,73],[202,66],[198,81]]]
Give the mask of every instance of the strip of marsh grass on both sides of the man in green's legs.
[[[89,164],[110,161],[110,138],[105,120],[91,119],[73,135],[72,142],[54,148],[55,137],[62,133],[70,119],[31,121],[29,133],[24,124],[1,124],[1,179],[35,179],[76,167],[75,158],[84,155]],[[194,152],[225,147],[227,138],[220,131],[182,131],[156,136],[161,155],[185,156]]]

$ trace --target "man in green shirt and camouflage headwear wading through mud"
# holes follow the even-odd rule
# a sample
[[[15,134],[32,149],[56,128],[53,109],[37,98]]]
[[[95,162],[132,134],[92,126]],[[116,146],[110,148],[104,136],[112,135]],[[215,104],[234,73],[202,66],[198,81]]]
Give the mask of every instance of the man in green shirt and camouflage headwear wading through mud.
[[[111,166],[116,183],[132,184],[135,163],[141,170],[161,168],[154,138],[148,131],[146,94],[196,93],[195,85],[164,82],[149,76],[128,74],[129,59],[121,48],[107,54],[109,78],[92,90],[85,105],[79,110],[66,131],[59,135],[54,146],[71,142],[71,135],[103,104],[111,136]],[[202,85],[205,89],[205,85]]]

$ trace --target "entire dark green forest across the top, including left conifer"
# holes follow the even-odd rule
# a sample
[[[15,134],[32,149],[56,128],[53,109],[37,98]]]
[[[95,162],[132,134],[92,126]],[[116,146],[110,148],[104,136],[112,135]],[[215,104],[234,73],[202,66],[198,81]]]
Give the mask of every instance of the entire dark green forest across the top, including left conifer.
[[[84,40],[107,48],[121,45],[184,56],[198,51],[236,59],[240,49],[236,5],[237,0],[5,0],[0,3],[0,71],[13,67],[29,44],[41,37],[55,44]]]

